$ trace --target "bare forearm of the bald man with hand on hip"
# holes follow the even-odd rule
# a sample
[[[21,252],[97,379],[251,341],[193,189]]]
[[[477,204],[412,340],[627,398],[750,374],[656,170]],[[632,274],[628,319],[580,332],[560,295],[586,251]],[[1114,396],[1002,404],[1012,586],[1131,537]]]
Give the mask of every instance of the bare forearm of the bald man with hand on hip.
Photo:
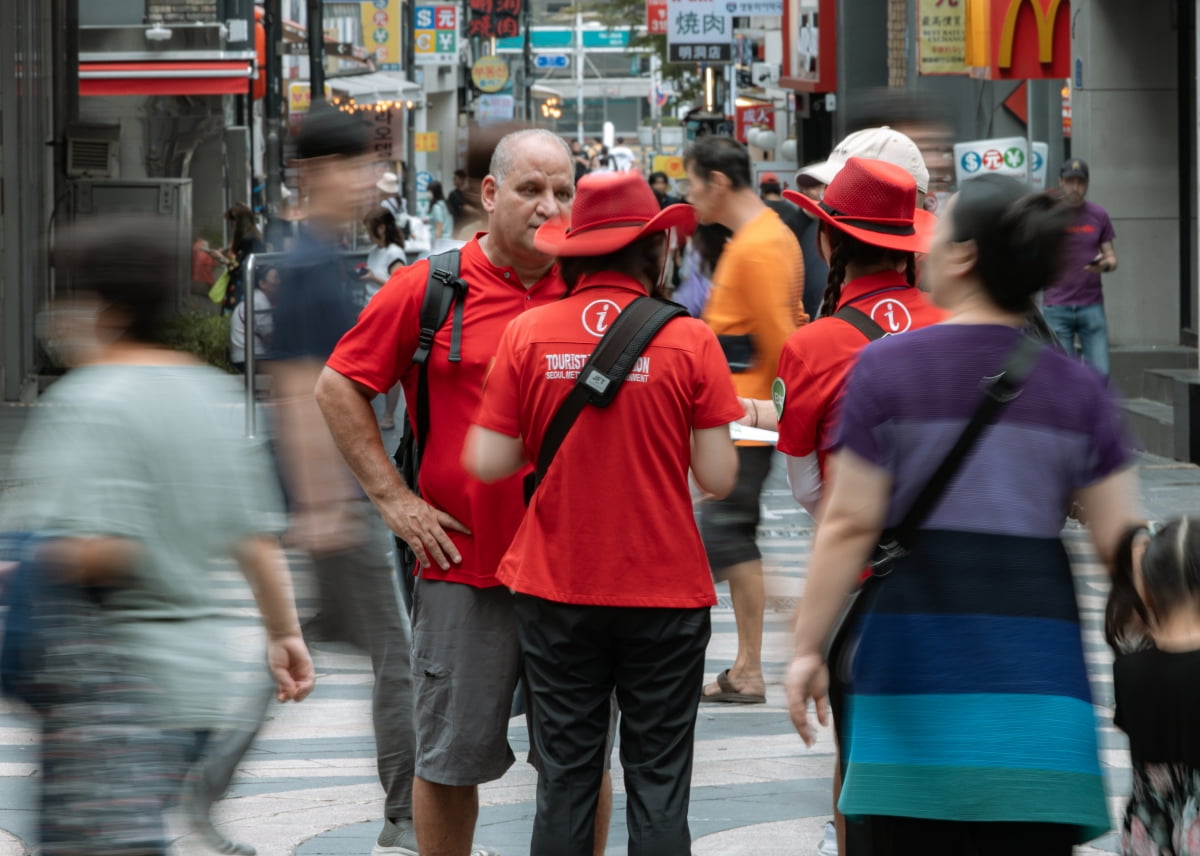
[[[326,367],[317,381],[317,406],[347,466],[376,504],[409,492],[383,447],[371,400],[353,381]]]

